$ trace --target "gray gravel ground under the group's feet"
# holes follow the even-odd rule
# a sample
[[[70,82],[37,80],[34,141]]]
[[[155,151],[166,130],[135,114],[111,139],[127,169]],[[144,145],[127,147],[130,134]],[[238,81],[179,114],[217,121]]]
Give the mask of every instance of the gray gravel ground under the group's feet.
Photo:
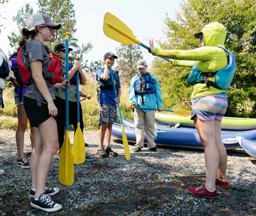
[[[86,152],[95,156],[98,131],[86,131]],[[70,132],[73,142],[73,132]],[[111,146],[119,153],[115,158],[96,158],[75,165],[71,186],[58,181],[59,161],[54,156],[47,186],[59,187],[52,196],[62,210],[51,215],[255,215],[256,160],[241,149],[228,151],[227,180],[230,189],[217,186],[218,199],[196,198],[186,187],[199,186],[205,179],[202,150],[163,148],[164,153],[139,153],[131,150],[131,160],[124,156],[122,142],[112,138]],[[25,133],[24,152],[30,158],[29,133]],[[0,131],[1,166],[0,215],[49,215],[30,206],[29,170],[15,166],[17,160],[15,132]]]

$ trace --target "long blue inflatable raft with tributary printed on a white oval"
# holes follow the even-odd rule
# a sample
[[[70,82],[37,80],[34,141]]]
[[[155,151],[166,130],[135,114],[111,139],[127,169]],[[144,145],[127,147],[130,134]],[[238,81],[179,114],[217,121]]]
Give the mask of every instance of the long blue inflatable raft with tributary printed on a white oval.
[[[123,120],[125,134],[129,142],[136,143],[134,122]],[[180,127],[171,128],[166,125],[156,125],[155,142],[157,146],[170,146],[190,149],[204,149],[199,135],[195,128]],[[120,124],[113,124],[112,135],[122,140],[122,129]],[[226,149],[240,148],[236,136],[246,137],[251,140],[256,140],[256,130],[251,131],[235,131],[222,130],[221,137]],[[144,143],[147,144],[146,136],[144,136]]]

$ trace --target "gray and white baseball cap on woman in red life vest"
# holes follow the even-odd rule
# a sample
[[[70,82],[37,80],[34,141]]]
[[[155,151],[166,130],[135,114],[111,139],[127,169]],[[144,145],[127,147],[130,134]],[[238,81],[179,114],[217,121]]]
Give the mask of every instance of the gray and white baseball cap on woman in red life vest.
[[[52,29],[57,30],[61,28],[61,24],[57,22],[52,22],[52,20],[43,13],[33,13],[31,17],[27,20],[27,29],[32,31],[38,25],[48,25],[52,26]]]

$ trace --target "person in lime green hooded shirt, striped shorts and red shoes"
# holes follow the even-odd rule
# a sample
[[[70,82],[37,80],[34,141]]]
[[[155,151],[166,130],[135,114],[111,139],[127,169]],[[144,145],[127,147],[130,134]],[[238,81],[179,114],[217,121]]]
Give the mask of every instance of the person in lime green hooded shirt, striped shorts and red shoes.
[[[204,81],[191,84],[191,119],[194,120],[200,140],[204,145],[206,181],[205,185],[200,187],[187,188],[187,192],[195,196],[216,199],[215,184],[229,188],[226,181],[227,153],[221,140],[221,121],[228,103],[225,88],[216,86],[216,79],[212,75],[209,76],[209,72],[223,70],[229,63],[229,51],[224,48],[226,28],[221,23],[212,22],[207,24],[202,31],[195,33],[194,37],[200,40],[200,48],[192,50],[154,49],[153,39],[149,41],[149,47],[154,56],[170,58],[172,67],[191,67],[190,75],[194,75],[196,71],[204,72],[205,76],[202,76]],[[234,68],[235,59],[232,73],[234,73]],[[231,82],[232,77],[229,79]]]

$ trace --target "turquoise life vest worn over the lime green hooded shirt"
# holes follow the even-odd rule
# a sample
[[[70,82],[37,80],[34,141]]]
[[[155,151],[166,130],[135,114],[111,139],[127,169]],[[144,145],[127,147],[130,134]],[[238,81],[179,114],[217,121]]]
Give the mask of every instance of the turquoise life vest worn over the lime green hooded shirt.
[[[235,74],[236,59],[234,54],[232,54],[224,47],[217,47],[224,49],[228,53],[229,56],[227,67],[224,67],[223,69],[216,72],[203,72],[200,71],[197,67],[195,67],[197,62],[196,61],[187,79],[189,85],[194,85],[196,83],[204,83],[207,88],[209,88],[210,86],[222,90],[227,90],[229,88]],[[208,77],[214,77],[213,81],[207,81]]]

